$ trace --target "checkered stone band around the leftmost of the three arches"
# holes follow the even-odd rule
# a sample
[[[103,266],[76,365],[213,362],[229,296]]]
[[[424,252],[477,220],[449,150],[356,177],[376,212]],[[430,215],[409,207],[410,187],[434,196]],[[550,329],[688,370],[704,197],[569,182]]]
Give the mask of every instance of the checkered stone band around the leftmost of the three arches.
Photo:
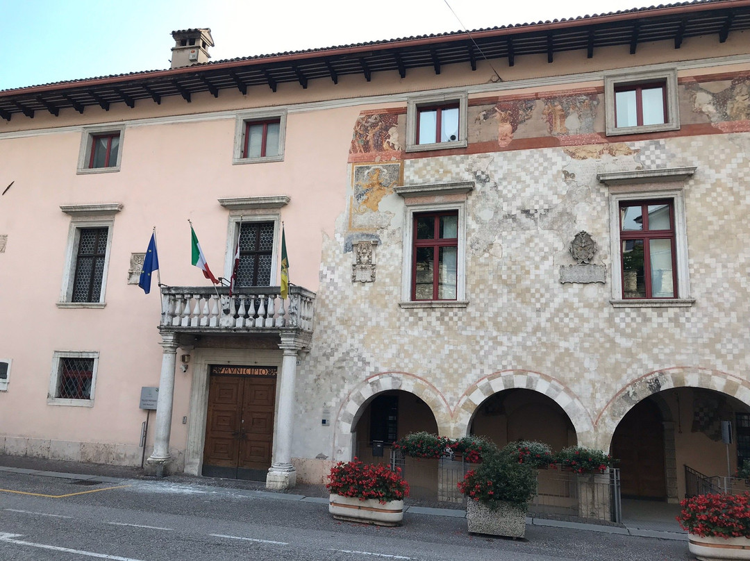
[[[365,407],[376,395],[391,390],[401,390],[424,401],[434,416],[438,433],[449,434],[451,408],[435,386],[425,378],[408,372],[382,372],[363,380],[342,401],[334,425],[333,460],[350,460],[353,457],[353,431]]]

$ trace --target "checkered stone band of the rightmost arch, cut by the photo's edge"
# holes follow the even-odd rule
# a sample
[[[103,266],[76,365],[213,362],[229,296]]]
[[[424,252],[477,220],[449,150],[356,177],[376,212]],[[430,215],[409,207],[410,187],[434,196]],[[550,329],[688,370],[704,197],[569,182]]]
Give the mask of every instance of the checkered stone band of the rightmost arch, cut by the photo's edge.
[[[617,425],[635,404],[665,389],[687,387],[721,392],[750,407],[750,380],[697,366],[661,368],[628,383],[598,413],[594,422],[597,447],[609,449]]]

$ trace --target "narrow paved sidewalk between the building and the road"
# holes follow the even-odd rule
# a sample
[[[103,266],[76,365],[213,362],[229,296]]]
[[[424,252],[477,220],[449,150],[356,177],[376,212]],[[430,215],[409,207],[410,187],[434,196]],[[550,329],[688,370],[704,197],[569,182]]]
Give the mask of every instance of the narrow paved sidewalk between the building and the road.
[[[26,458],[20,456],[0,455],[0,472],[23,473],[39,477],[54,477],[89,481],[96,483],[121,483],[126,480],[157,481],[153,476],[145,475],[142,469],[130,466],[110,466],[99,463],[70,462],[47,460],[45,458]],[[328,503],[328,492],[323,485],[299,484],[290,490],[266,490],[262,481],[245,481],[242,479],[222,479],[200,477],[197,475],[170,475],[164,478],[172,484],[193,487],[221,487],[234,489],[239,494],[257,496],[264,499]],[[449,516],[463,518],[463,508],[433,508],[409,504],[407,500],[404,512],[428,514],[431,516]],[[646,503],[643,501],[623,501],[623,526],[602,526],[565,520],[548,520],[546,518],[527,517],[526,523],[535,526],[580,529],[589,532],[635,535],[644,538],[660,538],[686,541],[687,534],[679,529],[674,517],[679,508],[665,503]]]

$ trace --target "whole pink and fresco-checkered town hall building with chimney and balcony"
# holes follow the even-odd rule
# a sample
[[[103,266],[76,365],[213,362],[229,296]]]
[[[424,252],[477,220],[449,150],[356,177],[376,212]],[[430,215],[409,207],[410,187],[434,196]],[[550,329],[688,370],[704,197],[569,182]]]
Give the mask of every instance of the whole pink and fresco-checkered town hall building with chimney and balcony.
[[[632,496],[732,472],[748,28],[719,0],[223,62],[190,29],[168,71],[0,92],[0,452],[288,487],[428,430],[610,450]]]

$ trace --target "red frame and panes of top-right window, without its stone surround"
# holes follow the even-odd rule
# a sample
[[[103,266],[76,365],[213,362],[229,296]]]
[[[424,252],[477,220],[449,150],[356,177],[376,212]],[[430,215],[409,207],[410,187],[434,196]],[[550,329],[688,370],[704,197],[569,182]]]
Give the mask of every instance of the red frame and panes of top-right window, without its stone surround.
[[[615,86],[615,127],[643,127],[664,124],[667,115],[667,83]]]

